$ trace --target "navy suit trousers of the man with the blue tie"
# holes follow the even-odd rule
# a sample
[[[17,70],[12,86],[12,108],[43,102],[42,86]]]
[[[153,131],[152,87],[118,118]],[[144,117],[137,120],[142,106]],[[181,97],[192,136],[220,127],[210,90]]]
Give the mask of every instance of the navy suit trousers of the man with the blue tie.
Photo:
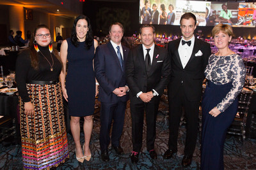
[[[101,102],[100,106],[100,150],[108,149],[110,143],[109,132],[113,120],[111,145],[119,146],[120,137],[124,127],[126,102],[118,101],[117,103]]]

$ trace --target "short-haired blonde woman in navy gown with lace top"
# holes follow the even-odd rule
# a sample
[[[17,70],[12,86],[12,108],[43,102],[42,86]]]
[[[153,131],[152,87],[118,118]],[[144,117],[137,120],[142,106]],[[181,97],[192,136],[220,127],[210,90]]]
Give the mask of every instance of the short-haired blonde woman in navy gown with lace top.
[[[243,60],[228,48],[232,34],[230,25],[218,24],[212,29],[218,52],[209,57],[205,69],[208,81],[202,101],[201,169],[224,169],[225,137],[236,116],[237,96],[244,85]]]

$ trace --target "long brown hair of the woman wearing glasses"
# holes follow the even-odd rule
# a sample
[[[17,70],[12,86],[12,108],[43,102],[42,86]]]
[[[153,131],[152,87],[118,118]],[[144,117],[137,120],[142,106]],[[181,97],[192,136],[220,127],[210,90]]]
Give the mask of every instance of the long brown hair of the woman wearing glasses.
[[[30,51],[30,60],[31,60],[31,66],[34,68],[34,69],[38,69],[38,52],[36,52],[35,50],[35,47],[34,47],[34,43],[36,43],[35,41],[35,35],[36,35],[36,31],[38,29],[41,29],[41,28],[45,28],[45,29],[48,29],[49,32],[50,32],[50,29],[49,27],[47,27],[46,25],[37,25],[37,27],[35,28],[35,31],[33,32],[32,34],[32,38],[31,38],[31,41],[29,42],[29,51]],[[51,32],[50,32],[51,33]],[[58,51],[53,48],[52,49],[52,53],[55,55],[55,57],[60,60],[61,62],[61,59],[60,59],[60,56],[59,56],[59,53]],[[62,66],[62,62],[61,62],[61,66]]]

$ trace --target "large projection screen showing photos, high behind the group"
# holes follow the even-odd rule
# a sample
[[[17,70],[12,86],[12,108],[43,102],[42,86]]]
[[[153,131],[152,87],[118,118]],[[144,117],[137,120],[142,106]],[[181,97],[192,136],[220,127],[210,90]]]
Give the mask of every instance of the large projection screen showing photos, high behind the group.
[[[232,27],[255,27],[256,3],[225,3],[209,1],[140,0],[140,24],[180,25],[180,17],[195,14],[197,25],[219,23]]]

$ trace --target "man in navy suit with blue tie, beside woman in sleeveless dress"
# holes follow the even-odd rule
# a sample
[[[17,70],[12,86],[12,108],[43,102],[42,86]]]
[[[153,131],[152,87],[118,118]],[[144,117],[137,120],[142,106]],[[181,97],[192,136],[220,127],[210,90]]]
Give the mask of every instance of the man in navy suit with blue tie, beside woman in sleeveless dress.
[[[129,88],[125,81],[125,63],[129,48],[121,45],[124,27],[119,22],[109,27],[110,42],[96,49],[94,59],[95,76],[99,82],[100,150],[102,160],[109,161],[109,131],[113,120],[111,146],[117,154],[124,153],[120,137],[124,126],[124,115]]]

